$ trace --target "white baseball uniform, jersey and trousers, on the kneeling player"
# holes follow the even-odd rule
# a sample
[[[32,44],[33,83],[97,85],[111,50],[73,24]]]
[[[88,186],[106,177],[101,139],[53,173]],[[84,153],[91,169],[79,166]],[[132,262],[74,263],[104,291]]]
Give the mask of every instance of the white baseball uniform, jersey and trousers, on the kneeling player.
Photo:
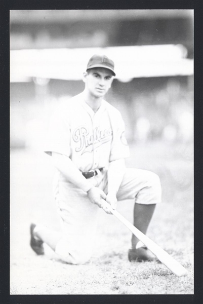
[[[108,169],[111,161],[129,156],[120,112],[103,100],[95,113],[83,93],[71,98],[51,119],[45,151],[66,155],[80,171]],[[56,173],[53,185],[63,237],[55,252],[67,263],[85,263],[94,249],[99,208],[90,202],[85,189],[68,181],[59,170]],[[107,170],[88,182],[108,193]],[[160,195],[160,182],[154,173],[127,168],[116,198],[147,205],[159,202]]]

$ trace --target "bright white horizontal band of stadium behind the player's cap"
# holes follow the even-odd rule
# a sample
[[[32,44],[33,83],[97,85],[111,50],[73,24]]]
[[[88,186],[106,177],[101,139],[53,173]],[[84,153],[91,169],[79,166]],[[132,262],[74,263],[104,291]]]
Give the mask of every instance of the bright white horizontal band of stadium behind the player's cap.
[[[10,55],[10,79],[11,82],[29,81],[33,77],[82,80],[87,62],[94,54],[113,59],[116,78],[123,82],[133,78],[193,74],[193,59],[186,59],[187,50],[182,45],[153,45],[15,50]]]

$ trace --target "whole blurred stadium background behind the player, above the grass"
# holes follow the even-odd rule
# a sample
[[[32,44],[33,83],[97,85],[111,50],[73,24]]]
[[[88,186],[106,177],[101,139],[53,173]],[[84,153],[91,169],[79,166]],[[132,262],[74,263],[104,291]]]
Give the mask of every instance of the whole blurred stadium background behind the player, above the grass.
[[[10,11],[11,148],[41,148],[94,53],[115,62],[106,100],[129,143],[193,141],[192,10]]]

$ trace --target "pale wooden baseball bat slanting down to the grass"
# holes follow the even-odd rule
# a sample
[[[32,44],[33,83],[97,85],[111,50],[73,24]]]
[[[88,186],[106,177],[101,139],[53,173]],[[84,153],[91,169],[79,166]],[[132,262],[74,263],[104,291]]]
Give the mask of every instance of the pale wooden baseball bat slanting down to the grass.
[[[103,200],[103,199],[102,199]],[[106,201],[104,201],[105,204]],[[182,277],[188,274],[188,271],[171,255],[169,255],[164,249],[154,243],[145,234],[139,231],[133,224],[131,224],[123,215],[108,204],[109,211],[117,217],[126,227],[159,259],[159,261],[168,267],[168,269],[174,273],[177,277]]]

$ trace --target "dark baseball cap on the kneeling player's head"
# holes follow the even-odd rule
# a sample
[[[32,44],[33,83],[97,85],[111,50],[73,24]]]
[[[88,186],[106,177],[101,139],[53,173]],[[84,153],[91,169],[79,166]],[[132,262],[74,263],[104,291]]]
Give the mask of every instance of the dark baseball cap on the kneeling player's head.
[[[113,72],[113,76],[115,76],[114,62],[105,55],[93,55],[88,62],[87,70],[93,67],[105,67],[110,69]]]

